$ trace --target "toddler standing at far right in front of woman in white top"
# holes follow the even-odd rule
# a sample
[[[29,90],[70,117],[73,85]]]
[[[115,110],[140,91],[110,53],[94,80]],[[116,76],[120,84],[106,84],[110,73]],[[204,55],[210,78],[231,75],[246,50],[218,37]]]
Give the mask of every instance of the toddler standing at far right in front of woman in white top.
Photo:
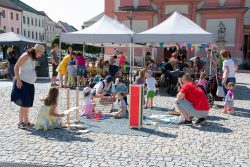
[[[224,108],[223,108],[223,113],[233,113],[234,112],[234,109],[233,109],[233,106],[234,106],[234,88],[235,88],[235,84],[233,82],[229,82],[227,84],[227,88],[228,88],[228,91],[227,91],[227,95],[225,97],[225,105],[224,105]]]

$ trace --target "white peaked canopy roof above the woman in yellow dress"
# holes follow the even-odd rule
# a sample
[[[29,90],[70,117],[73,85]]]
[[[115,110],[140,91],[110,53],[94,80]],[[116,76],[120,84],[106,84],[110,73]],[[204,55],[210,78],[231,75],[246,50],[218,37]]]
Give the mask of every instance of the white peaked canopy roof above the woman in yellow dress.
[[[66,43],[83,44],[83,43],[131,43],[134,34],[124,24],[103,16],[98,22],[86,29],[60,34],[60,41]]]

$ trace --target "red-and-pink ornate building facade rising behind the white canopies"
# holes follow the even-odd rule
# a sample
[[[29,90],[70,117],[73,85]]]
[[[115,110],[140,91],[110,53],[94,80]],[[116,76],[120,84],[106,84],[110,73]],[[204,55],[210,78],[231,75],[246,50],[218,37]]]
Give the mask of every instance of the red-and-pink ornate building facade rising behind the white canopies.
[[[250,1],[247,0],[105,0],[105,14],[132,27],[135,32],[152,28],[178,11],[214,33],[216,41],[218,25],[223,22],[227,29],[225,47],[238,61],[250,58],[249,7]],[[129,18],[132,18],[132,25]],[[164,50],[160,49],[158,55],[162,56]],[[105,51],[111,54],[111,49]],[[141,54],[137,49],[136,55]],[[189,55],[194,55],[194,52]]]

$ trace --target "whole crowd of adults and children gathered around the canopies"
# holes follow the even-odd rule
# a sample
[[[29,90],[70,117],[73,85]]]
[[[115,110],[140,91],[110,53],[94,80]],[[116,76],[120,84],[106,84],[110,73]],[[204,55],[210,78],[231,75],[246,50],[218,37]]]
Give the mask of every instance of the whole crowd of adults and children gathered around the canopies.
[[[34,63],[37,58],[42,56],[44,50],[45,48],[42,45],[35,45],[23,53],[14,67],[16,79],[13,84],[11,101],[20,106],[19,128],[34,126],[28,119],[29,108],[33,106],[35,93],[36,72]],[[62,126],[60,118],[65,115],[58,114],[56,110],[59,96],[57,86],[61,88],[83,87],[82,115],[89,116],[95,112],[96,104],[93,98],[97,97],[114,102],[110,116],[117,119],[127,116],[129,89],[123,74],[128,73],[129,70],[126,69],[126,57],[122,52],[118,56],[111,57],[109,62],[104,62],[101,59],[98,63],[89,62],[81,52],[74,52],[72,48],[68,49],[68,54],[59,62],[57,52],[58,45],[55,44],[51,51],[51,88],[47,96],[42,100],[43,105],[35,124],[36,129],[47,130]],[[155,68],[160,68],[162,75],[166,75],[166,78],[175,69],[179,69],[179,71],[184,71],[184,75],[178,76],[178,78],[181,78],[178,80],[181,85],[178,90],[179,93],[176,95],[176,110],[184,118],[182,124],[191,124],[192,118],[197,118],[196,124],[204,123],[210,110],[209,101],[204,90],[206,90],[209,80],[217,75],[218,68],[218,57],[210,53],[211,50],[208,50],[206,64],[202,63],[199,57],[188,61],[183,53],[178,52],[174,52],[168,61],[165,59],[164,62],[156,64],[152,60],[150,52],[148,52],[145,57],[146,68],[138,71],[138,76],[133,81],[133,84],[145,85],[147,93],[144,107],[154,107],[153,99],[157,85],[156,75],[154,74]],[[225,92],[225,107],[223,112],[232,113],[236,82],[235,65],[229,51],[222,50],[220,55],[224,60],[222,86]],[[108,69],[106,72],[104,72],[105,68]],[[199,74],[198,79],[196,73]],[[60,78],[59,84],[56,83],[58,74]],[[198,85],[204,89],[201,89]]]

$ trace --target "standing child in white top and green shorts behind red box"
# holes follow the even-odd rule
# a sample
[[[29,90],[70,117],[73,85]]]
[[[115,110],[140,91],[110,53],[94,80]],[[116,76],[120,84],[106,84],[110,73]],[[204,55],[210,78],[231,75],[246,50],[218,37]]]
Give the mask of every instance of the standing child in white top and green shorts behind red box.
[[[153,108],[153,99],[155,96],[155,90],[156,90],[156,80],[154,77],[152,77],[153,71],[148,70],[146,72],[146,84],[147,84],[147,102],[145,108]]]

